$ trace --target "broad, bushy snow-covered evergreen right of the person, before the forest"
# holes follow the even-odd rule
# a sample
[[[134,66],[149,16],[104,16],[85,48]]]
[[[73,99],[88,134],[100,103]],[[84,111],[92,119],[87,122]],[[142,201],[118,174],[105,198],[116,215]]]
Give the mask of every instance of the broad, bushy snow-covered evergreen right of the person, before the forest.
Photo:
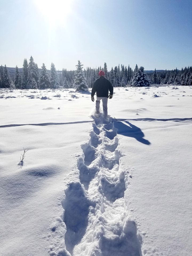
[[[150,86],[150,80],[147,74],[144,72],[144,67],[140,67],[133,79],[132,79],[132,86],[137,87],[137,86]]]

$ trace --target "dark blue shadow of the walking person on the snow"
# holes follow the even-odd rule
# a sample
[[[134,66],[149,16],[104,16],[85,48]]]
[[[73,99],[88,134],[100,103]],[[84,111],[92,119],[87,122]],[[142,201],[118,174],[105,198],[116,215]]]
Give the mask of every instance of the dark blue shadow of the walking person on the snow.
[[[127,137],[135,138],[135,139],[137,139],[137,141],[139,141],[143,144],[146,144],[146,145],[151,144],[147,139],[143,138],[145,135],[142,132],[142,130],[139,127],[131,124],[128,121],[114,122],[114,126],[115,126],[115,128],[118,129],[117,130],[118,134],[122,134],[122,135],[127,136]]]

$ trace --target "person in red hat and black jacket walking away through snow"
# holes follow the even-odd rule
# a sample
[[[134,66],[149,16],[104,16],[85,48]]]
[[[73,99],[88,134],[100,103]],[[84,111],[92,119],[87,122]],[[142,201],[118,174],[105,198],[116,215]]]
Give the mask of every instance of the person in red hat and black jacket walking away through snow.
[[[110,92],[110,94],[109,94]],[[93,84],[93,88],[91,91],[91,100],[94,102],[94,95],[97,95],[96,100],[96,113],[99,113],[99,106],[100,101],[102,100],[103,103],[103,116],[107,119],[107,101],[108,98],[113,98],[113,86],[111,85],[110,81],[105,78],[105,72],[103,70],[99,71],[99,78],[95,80]]]

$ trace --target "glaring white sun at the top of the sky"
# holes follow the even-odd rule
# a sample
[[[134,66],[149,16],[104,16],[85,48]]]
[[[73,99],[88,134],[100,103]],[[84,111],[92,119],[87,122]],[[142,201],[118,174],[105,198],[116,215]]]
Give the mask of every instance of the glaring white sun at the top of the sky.
[[[35,5],[50,26],[66,26],[72,13],[73,0],[34,0]]]

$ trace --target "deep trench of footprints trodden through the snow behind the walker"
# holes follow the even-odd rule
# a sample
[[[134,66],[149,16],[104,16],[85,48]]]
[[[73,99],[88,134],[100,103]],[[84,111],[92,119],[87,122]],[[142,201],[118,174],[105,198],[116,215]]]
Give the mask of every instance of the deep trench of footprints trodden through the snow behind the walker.
[[[79,182],[70,182],[62,202],[66,225],[62,254],[72,256],[141,256],[137,225],[129,216],[117,129],[111,119],[94,119],[89,143],[78,160]]]

